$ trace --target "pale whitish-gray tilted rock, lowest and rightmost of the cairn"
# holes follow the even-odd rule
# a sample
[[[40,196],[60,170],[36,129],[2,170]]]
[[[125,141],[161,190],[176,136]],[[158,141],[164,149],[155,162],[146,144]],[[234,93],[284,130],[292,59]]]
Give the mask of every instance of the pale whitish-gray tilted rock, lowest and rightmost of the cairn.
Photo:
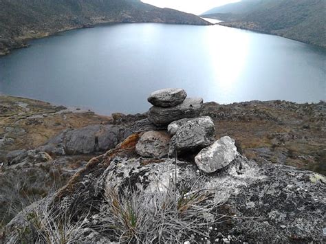
[[[230,164],[237,155],[235,140],[224,136],[212,145],[204,148],[195,157],[198,168],[205,173],[213,173]]]

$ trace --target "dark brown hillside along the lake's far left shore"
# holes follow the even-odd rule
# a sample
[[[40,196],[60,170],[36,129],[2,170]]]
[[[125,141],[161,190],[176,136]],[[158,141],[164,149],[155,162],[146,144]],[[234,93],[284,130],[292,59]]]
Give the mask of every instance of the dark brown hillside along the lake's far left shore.
[[[110,22],[209,24],[138,0],[0,0],[0,55],[23,47],[30,38]]]

